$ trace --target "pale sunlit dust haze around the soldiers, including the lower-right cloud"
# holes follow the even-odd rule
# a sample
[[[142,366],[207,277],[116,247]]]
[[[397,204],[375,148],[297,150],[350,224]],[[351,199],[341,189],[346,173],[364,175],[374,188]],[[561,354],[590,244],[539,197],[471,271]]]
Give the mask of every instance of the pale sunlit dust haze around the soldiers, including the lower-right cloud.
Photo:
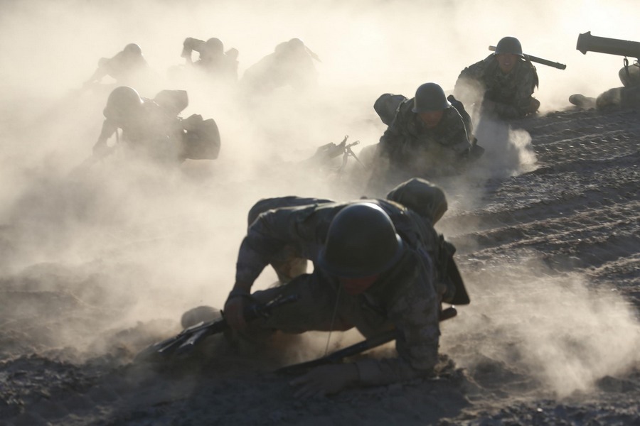
[[[3,278],[18,276],[29,290],[60,290],[110,312],[97,332],[158,318],[175,320],[177,328],[179,315],[190,307],[222,307],[233,285],[247,211],[259,198],[362,195],[362,187],[304,170],[299,163],[345,135],[350,142],[361,141],[358,150],[377,143],[385,130],[373,111],[380,94],[412,97],[430,81],[449,92],[464,67],[485,58],[489,45],[513,35],[526,53],[567,65],[566,70],[537,65],[540,88],[534,96],[540,111],[562,109],[570,94],[596,96],[621,85],[622,58],[582,55],[575,50],[577,36],[591,31],[640,40],[634,31],[638,12],[636,1],[5,1],[0,6],[0,223],[12,238],[0,241]],[[183,64],[186,37],[218,37],[225,49],[238,49],[240,77],[278,43],[301,38],[321,59],[315,64],[318,87],[302,95],[282,89],[248,106],[231,89],[171,80],[171,70]],[[127,43],[139,44],[156,72],[155,80],[139,88],[142,96],[187,89],[190,104],[181,115],[215,119],[222,138],[218,160],[188,161],[181,170],[167,172],[116,156],[74,173],[92,153],[113,86],[92,94],[79,89],[99,58],[112,57]],[[528,133],[496,136],[504,131],[479,129],[479,143],[488,150],[476,178],[535,168]],[[450,213],[481,202],[481,193],[469,185],[464,179],[444,182]],[[265,271],[258,286],[274,280]],[[572,361],[563,358],[566,352],[553,344],[557,339],[546,327],[556,320],[582,327],[572,339],[594,360],[571,362],[575,381],[554,385],[562,394],[584,388],[590,375],[637,362],[639,353],[638,324],[631,314],[592,324],[587,332],[582,320],[595,321],[600,302],[580,278],[572,283],[580,306],[575,317],[562,310],[568,290],[536,299],[514,297],[510,305],[542,321],[533,330],[520,329],[517,322],[509,330],[521,336],[523,362],[530,366],[542,368],[548,359],[558,366]],[[494,302],[484,300],[482,285],[470,288],[475,300],[469,317],[474,318]],[[540,312],[549,297],[553,304]],[[465,329],[464,320],[456,324]],[[456,327],[452,322],[444,333]],[[616,328],[618,334],[608,333]],[[60,329],[60,344],[77,344],[70,337],[74,331]],[[626,331],[634,339],[625,343]],[[87,339],[91,332],[85,330]],[[530,349],[535,333],[536,342],[549,346]],[[618,359],[601,353],[603,344],[619,347]],[[555,366],[538,372],[543,380],[550,381]]]

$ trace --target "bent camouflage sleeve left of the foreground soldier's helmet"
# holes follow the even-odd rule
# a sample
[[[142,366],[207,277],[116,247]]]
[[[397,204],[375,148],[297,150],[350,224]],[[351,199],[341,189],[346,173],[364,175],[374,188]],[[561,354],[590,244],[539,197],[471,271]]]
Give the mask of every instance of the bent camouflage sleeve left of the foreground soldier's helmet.
[[[333,214],[332,209],[317,212],[317,207],[285,207],[260,214],[240,244],[235,282],[252,285],[272,258],[288,244],[306,248],[307,253],[322,244]]]

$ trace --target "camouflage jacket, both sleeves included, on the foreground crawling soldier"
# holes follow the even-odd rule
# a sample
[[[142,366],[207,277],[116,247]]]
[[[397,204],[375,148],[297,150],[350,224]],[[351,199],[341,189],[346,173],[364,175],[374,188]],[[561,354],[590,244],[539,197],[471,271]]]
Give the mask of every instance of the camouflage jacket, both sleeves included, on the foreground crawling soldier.
[[[439,297],[434,288],[434,250],[438,235],[431,223],[402,205],[386,200],[368,200],[389,214],[398,234],[405,242],[402,259],[361,295],[342,293],[356,307],[366,309],[363,317],[352,317],[352,323],[366,337],[385,329],[398,330],[392,359],[358,361],[361,383],[382,384],[402,381],[432,372],[437,363],[439,341]],[[252,285],[271,258],[284,246],[297,246],[305,258],[316,261],[324,244],[329,224],[349,203],[322,202],[298,207],[271,209],[260,214],[242,241],[236,268],[236,283]],[[309,275],[336,288],[338,278],[316,266]],[[246,290],[249,290],[248,288]],[[332,306],[325,309],[332,310]],[[359,314],[351,314],[359,315]],[[381,326],[383,328],[381,328]]]

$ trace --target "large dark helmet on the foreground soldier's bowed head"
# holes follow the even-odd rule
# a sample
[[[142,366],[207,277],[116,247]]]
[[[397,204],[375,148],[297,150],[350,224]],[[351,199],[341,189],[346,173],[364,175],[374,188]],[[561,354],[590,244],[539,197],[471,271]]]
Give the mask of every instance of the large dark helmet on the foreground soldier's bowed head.
[[[341,278],[363,278],[395,265],[403,249],[388,214],[378,204],[356,202],[331,221],[318,264]]]

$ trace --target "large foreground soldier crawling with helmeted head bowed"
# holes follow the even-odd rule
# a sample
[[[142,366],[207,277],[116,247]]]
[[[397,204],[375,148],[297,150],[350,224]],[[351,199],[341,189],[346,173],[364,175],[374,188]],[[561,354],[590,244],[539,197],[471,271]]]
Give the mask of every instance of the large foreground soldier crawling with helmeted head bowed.
[[[411,182],[396,188],[394,196],[420,200],[412,195],[424,185],[429,186]],[[469,303],[462,280],[440,279],[442,245],[430,217],[446,209],[444,194],[440,201],[433,201],[435,197],[422,203],[424,216],[390,200],[270,200],[255,207],[265,211],[249,226],[240,246],[235,285],[224,311],[230,327],[245,334],[356,327],[366,337],[398,330],[397,357],[314,368],[292,381],[299,387],[298,397],[336,393],[349,384],[380,385],[430,375],[437,364],[441,303]],[[283,207],[270,209],[274,204]],[[288,247],[314,261],[313,273],[251,293],[265,266],[276,267],[274,260]],[[300,298],[247,328],[242,312],[250,300],[289,294]]]

